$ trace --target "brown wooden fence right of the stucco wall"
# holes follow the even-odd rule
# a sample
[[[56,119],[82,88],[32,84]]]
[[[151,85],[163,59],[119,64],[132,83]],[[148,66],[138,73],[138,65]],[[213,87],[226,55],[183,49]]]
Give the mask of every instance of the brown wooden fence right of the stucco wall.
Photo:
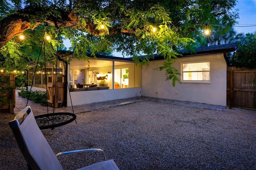
[[[227,106],[256,109],[256,69],[227,68]]]

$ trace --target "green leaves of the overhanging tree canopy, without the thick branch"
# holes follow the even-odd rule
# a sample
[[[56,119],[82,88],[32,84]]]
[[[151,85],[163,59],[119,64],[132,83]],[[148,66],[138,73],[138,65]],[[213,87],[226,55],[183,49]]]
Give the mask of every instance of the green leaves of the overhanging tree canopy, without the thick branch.
[[[69,28],[47,26],[51,35],[59,34],[69,39],[74,56],[88,60],[88,53],[96,57],[97,53],[105,54],[121,51],[129,55],[136,63],[146,64],[154,54],[164,56],[166,61],[159,70],[166,71],[167,79],[172,79],[173,85],[178,81],[178,71],[172,67],[175,51],[185,47],[193,48],[200,43],[206,43],[202,38],[203,24],[215,24],[218,18],[223,18],[230,25],[236,23],[238,12],[232,10],[237,0],[11,0],[0,1],[0,19],[19,14],[29,18],[30,23],[44,23],[49,17],[58,20],[61,10],[77,14],[79,21]],[[72,2],[72,4],[67,4]],[[22,7],[30,12],[24,14]],[[43,12],[38,12],[44,9]],[[61,9],[61,10],[59,10]],[[63,19],[63,18],[62,18]],[[54,21],[51,21],[54,22]],[[86,27],[96,24],[93,30]],[[104,28],[101,28],[101,25]],[[157,31],[152,32],[156,27]],[[0,67],[7,69],[25,67],[26,62],[35,60],[41,49],[42,26],[36,30],[27,30],[24,34],[30,38],[17,42],[14,38],[3,49],[0,55]],[[88,29],[88,30],[87,30]],[[116,32],[110,34],[111,29]],[[41,30],[41,31],[40,31]],[[97,37],[92,32],[97,31]],[[105,31],[105,33],[103,33]],[[48,34],[48,33],[47,33]],[[46,59],[40,58],[40,65],[56,54],[56,37],[44,43]],[[146,54],[144,58],[140,57]],[[41,54],[42,55],[42,54]],[[43,55],[42,55],[43,56]],[[23,59],[23,60],[22,60]],[[19,65],[18,63],[22,63]],[[40,68],[39,68],[40,69]]]

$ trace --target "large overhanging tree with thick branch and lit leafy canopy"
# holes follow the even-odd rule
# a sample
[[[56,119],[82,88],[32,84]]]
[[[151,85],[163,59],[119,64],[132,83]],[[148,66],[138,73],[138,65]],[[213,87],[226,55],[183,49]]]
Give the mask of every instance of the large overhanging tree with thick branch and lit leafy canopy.
[[[158,53],[166,58],[159,69],[174,83],[179,74],[172,67],[175,51],[201,40],[204,24],[218,18],[232,24],[238,16],[232,10],[236,0],[10,0],[0,4],[1,50],[8,51],[8,42],[17,43],[16,37],[26,30],[44,25],[46,31],[70,39],[77,57],[86,57],[88,51],[94,55],[116,50],[144,63]],[[141,60],[141,53],[148,57]]]

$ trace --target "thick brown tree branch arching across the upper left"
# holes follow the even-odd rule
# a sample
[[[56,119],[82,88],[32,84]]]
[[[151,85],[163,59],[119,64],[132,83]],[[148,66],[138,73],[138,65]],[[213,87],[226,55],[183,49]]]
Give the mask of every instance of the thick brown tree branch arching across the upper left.
[[[41,24],[49,24],[52,26],[57,26],[60,28],[70,28],[76,26],[76,28],[80,28],[81,30],[84,30],[86,28],[90,34],[93,36],[99,36],[99,34],[105,33],[104,30],[96,30],[97,25],[86,22],[86,25],[79,24],[80,16],[77,14],[67,12],[64,10],[58,10],[54,9],[56,11],[60,12],[60,17],[56,18],[55,16],[48,16],[45,21],[42,21],[42,15],[46,9],[38,8],[34,9],[34,11],[37,11],[37,15],[34,15],[33,19],[35,22],[31,24],[29,21],[31,18],[28,16],[31,15],[31,10],[23,10],[19,13],[12,14],[10,16],[7,16],[0,22],[0,48],[2,48],[6,43],[8,43],[12,38],[21,35],[25,30],[28,29],[34,29],[37,26]],[[128,30],[121,30],[120,26],[111,28],[109,30],[109,34],[135,34],[135,31],[128,31]]]

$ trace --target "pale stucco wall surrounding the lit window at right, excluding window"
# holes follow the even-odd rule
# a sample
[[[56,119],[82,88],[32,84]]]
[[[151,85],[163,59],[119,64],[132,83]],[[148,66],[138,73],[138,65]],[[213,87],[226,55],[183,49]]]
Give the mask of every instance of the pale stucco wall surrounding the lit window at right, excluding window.
[[[226,61],[223,53],[181,57],[173,66],[181,73],[181,63],[210,61],[210,83],[176,83],[165,80],[165,70],[154,70],[164,60],[150,61],[142,66],[142,95],[163,99],[192,101],[226,106]],[[179,76],[180,78],[180,76]]]

